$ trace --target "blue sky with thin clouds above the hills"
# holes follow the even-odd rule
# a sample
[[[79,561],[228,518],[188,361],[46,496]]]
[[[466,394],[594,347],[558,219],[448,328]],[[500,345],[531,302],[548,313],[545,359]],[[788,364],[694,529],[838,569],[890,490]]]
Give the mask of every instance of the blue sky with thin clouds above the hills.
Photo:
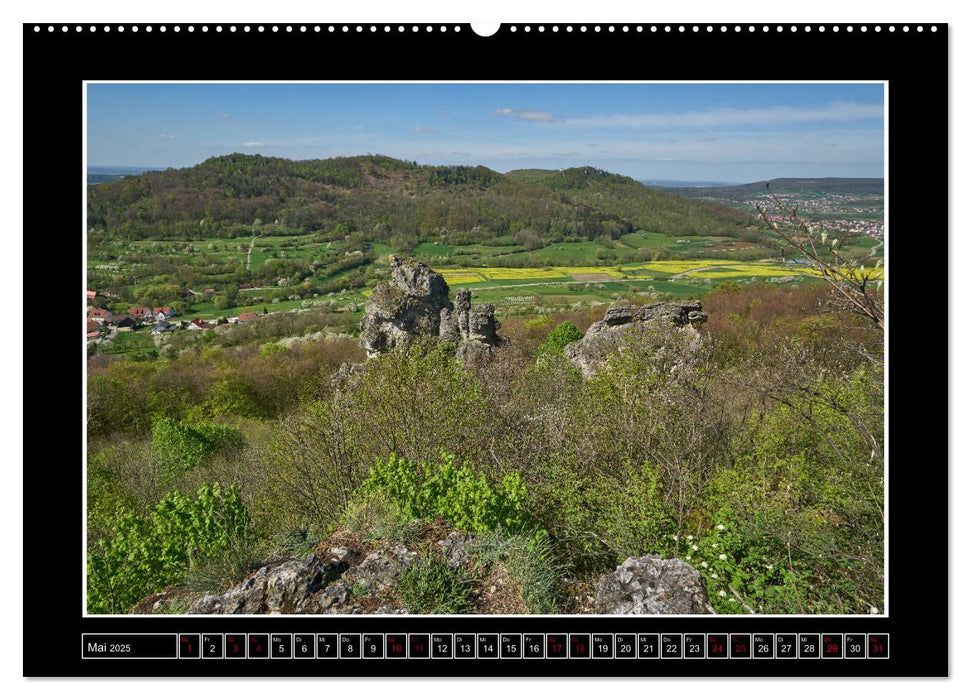
[[[638,179],[883,175],[873,84],[90,84],[87,99],[90,165],[381,153]]]

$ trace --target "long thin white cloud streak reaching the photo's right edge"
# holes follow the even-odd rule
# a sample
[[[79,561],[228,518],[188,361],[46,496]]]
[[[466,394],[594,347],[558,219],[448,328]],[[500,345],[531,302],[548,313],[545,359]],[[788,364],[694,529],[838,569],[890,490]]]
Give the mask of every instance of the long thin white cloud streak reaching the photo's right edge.
[[[804,122],[847,122],[882,119],[883,105],[832,102],[821,107],[725,107],[695,112],[653,114],[609,114],[561,120],[578,127],[666,129],[676,127],[737,127],[797,124]]]

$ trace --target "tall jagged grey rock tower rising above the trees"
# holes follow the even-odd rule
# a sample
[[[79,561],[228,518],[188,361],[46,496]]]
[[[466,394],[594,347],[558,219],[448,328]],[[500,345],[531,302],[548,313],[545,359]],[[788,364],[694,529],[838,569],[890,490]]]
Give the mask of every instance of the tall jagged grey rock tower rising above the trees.
[[[492,304],[472,306],[472,292],[448,298],[445,278],[424,263],[390,257],[391,280],[371,293],[361,320],[368,357],[410,345],[418,338],[454,343],[459,359],[488,355],[501,342]]]

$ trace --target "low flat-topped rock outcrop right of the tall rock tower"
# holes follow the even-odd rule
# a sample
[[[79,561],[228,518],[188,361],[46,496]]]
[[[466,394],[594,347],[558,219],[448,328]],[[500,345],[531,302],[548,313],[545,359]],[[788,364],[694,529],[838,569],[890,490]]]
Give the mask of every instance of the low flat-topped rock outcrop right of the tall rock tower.
[[[700,301],[620,304],[607,309],[603,319],[593,323],[583,338],[567,345],[564,353],[590,377],[611,353],[637,345],[657,346],[672,327],[681,329],[689,344],[697,344],[700,334],[695,326],[706,320]]]

